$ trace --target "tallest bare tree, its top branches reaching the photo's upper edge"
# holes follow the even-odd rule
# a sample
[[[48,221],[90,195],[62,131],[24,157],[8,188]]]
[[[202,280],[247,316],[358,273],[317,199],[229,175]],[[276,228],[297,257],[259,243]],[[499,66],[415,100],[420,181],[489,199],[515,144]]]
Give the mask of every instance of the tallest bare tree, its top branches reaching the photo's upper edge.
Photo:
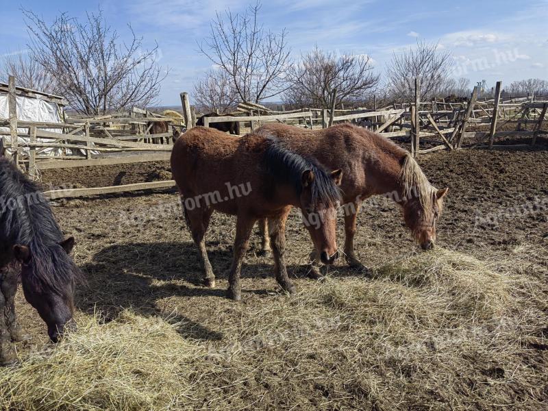
[[[258,103],[284,91],[290,49],[286,31],[273,33],[258,22],[260,3],[243,14],[226,10],[211,22],[199,50],[224,71],[242,101]]]

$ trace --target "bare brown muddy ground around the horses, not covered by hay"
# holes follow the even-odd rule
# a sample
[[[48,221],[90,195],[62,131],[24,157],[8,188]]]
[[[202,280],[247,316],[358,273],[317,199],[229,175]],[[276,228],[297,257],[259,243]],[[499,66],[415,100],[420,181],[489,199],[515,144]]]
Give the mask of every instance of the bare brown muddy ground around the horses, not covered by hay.
[[[538,321],[531,324],[530,334],[545,341],[548,337],[545,322],[548,315],[548,148],[440,151],[421,156],[419,163],[435,186],[449,187],[445,210],[438,225],[440,247],[468,253],[479,260],[503,258],[516,250],[522,253],[522,258],[523,253],[529,254],[525,255],[525,260],[530,260],[531,264],[520,275],[530,277],[534,284],[540,284],[536,286],[540,289],[535,290],[536,297],[532,302],[524,303],[519,309],[540,313]],[[169,178],[169,164],[166,162],[42,173],[42,183],[54,186],[67,183],[107,186],[166,178]],[[271,275],[271,260],[258,256],[260,242],[257,233],[242,269],[243,302],[236,304],[223,298],[227,286],[225,271],[229,267],[234,238],[234,219],[221,214],[212,217],[206,237],[210,260],[219,278],[218,286],[214,290],[201,287],[197,255],[173,191],[69,199],[55,202],[53,210],[64,232],[77,239],[75,260],[88,282],[79,288],[76,296],[77,309],[81,312],[99,311],[107,319],[114,319],[121,310],[129,307],[143,315],[167,312],[186,325],[182,331],[186,338],[222,340],[223,334],[231,332],[238,323],[242,311],[253,310],[262,304],[276,304],[277,299],[284,298]],[[403,227],[397,206],[386,199],[367,201],[360,212],[358,227],[356,251],[369,268],[416,251],[408,230]],[[339,228],[339,243],[342,239],[342,229]],[[295,278],[297,288],[321,286],[306,278],[310,240],[299,223],[297,212],[292,213],[288,223],[287,242],[288,271]],[[326,272],[341,280],[343,277],[367,276],[367,273],[347,269],[342,262]],[[543,300],[542,296],[545,297],[544,303],[539,302]],[[18,349],[26,352],[45,344],[45,327],[24,303],[21,292],[18,312],[21,322],[33,337],[18,345]],[[533,399],[532,403],[540,404],[548,400],[547,345],[527,347],[523,351],[523,362],[537,367],[540,375],[535,384],[538,390],[524,393],[521,382],[508,379],[505,384],[510,384],[512,392],[508,403],[517,401],[525,404],[525,408],[534,409],[534,406],[527,406],[527,401]],[[473,368],[475,365],[471,362],[469,366]],[[327,373],[321,369],[317,372]],[[508,377],[512,371],[506,372]],[[278,377],[280,389],[284,384],[301,384],[299,375]],[[419,378],[413,384],[420,385],[421,381]],[[302,384],[299,388],[301,395],[316,406],[321,403],[321,408],[325,409],[362,408],[353,399],[321,402],[319,399],[329,397],[325,397],[327,388],[320,389],[304,381]],[[410,390],[413,389],[411,386]],[[258,388],[249,386],[250,393],[254,390]],[[351,393],[348,395],[352,397]],[[280,397],[279,403],[276,399],[273,401],[271,406],[289,408],[290,402],[284,402],[288,399]],[[466,405],[466,400],[463,401],[461,406]],[[473,403],[468,405],[473,406]],[[495,408],[495,404],[492,405]],[[432,408],[432,404],[419,406],[413,401],[398,404],[398,408],[414,406]],[[363,408],[371,407],[375,408],[375,404],[363,403]]]

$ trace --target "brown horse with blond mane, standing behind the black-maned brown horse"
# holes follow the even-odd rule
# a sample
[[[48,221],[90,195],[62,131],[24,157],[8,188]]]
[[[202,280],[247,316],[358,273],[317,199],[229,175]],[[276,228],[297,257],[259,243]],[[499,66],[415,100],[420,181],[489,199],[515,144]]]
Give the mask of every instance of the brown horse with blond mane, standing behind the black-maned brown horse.
[[[260,127],[256,134],[276,136],[288,149],[310,153],[321,164],[327,167],[336,164],[343,170],[345,256],[351,266],[362,267],[353,245],[356,217],[360,203],[373,195],[384,195],[398,203],[416,241],[423,249],[434,247],[436,221],[448,188],[434,188],[408,151],[378,134],[349,124],[314,131],[271,124]],[[318,275],[317,270],[314,275]]]

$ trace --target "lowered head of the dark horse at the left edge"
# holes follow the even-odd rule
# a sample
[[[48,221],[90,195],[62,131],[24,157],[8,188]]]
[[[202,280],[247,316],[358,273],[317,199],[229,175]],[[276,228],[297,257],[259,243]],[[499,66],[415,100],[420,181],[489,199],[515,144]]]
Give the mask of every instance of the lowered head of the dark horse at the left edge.
[[[75,278],[79,276],[77,267],[69,258],[74,237],[66,238],[59,245],[51,251],[51,261],[50,256],[33,256],[25,245],[13,246],[14,258],[21,263],[25,299],[47,324],[47,333],[54,343],[66,329],[75,327],[72,321],[74,288]],[[53,272],[43,273],[45,270]]]

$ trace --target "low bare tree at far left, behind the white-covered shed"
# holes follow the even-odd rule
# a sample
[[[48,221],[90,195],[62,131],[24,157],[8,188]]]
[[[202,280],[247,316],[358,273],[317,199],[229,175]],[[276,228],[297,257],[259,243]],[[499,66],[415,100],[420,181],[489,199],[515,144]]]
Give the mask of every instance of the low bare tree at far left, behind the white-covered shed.
[[[9,75],[15,76],[18,86],[50,94],[60,92],[55,78],[29,54],[28,50],[5,56],[0,77],[7,82]]]

